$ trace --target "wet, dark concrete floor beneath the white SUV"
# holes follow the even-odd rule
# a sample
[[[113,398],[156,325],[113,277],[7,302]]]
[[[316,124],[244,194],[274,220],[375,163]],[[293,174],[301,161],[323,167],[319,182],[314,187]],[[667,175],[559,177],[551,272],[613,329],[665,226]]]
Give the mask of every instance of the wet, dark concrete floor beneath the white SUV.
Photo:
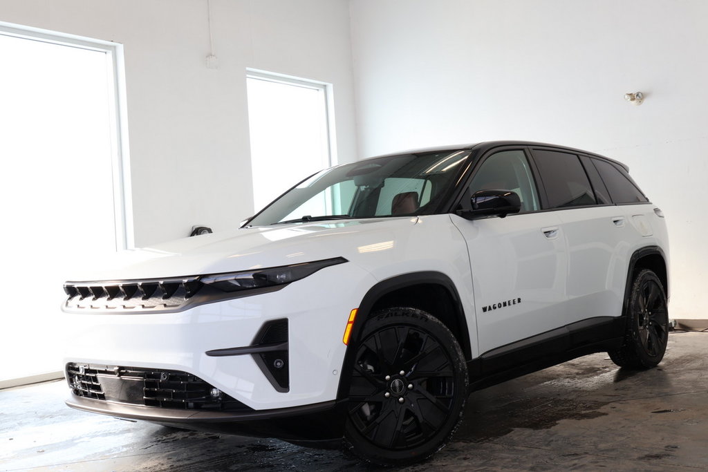
[[[372,470],[340,451],[170,430],[64,406],[63,381],[0,391],[0,470]],[[708,333],[646,372],[596,354],[469,397],[455,439],[406,471],[708,470]]]

